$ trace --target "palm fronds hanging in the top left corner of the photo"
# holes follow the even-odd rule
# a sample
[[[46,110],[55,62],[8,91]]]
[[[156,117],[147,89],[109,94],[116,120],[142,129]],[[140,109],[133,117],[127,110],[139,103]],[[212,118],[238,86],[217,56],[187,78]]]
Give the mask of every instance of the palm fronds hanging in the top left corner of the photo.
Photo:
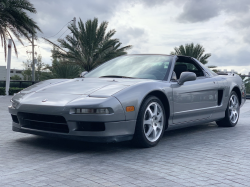
[[[0,38],[6,60],[7,39],[13,41],[15,53],[17,49],[12,34],[23,44],[21,37],[30,40],[30,34],[36,34],[41,29],[25,11],[36,13],[33,4],[28,0],[0,0]]]

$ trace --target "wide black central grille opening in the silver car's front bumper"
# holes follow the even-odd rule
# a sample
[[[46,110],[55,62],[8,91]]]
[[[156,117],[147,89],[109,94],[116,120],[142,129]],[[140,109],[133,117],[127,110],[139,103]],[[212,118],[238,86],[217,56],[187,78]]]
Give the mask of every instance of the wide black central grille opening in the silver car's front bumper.
[[[19,112],[22,127],[43,131],[69,133],[69,127],[63,116],[31,114]]]

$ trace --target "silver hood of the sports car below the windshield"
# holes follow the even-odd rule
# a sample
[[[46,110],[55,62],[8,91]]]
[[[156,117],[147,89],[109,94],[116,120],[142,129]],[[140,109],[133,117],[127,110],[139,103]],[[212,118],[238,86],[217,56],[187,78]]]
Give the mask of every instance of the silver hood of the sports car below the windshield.
[[[45,95],[69,94],[108,97],[129,86],[145,81],[153,80],[121,78],[52,79],[37,83],[24,89],[21,93],[36,92]]]

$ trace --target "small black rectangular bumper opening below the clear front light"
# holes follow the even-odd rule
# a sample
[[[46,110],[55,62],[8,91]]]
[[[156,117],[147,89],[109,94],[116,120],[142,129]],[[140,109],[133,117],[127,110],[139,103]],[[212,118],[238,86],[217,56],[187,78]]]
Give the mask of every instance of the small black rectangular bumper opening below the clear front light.
[[[77,122],[76,131],[105,131],[105,124],[102,122]]]

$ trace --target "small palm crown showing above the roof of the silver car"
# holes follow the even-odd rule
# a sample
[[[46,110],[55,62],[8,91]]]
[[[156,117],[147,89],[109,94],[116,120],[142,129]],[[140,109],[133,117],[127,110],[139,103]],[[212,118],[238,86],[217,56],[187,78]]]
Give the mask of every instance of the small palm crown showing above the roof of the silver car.
[[[179,47],[174,48],[174,52],[171,52],[171,55],[183,55],[183,56],[191,56],[199,60],[202,64],[207,64],[207,59],[211,56],[211,53],[206,53],[205,49],[202,45],[193,43],[186,44],[185,46],[180,45]]]

